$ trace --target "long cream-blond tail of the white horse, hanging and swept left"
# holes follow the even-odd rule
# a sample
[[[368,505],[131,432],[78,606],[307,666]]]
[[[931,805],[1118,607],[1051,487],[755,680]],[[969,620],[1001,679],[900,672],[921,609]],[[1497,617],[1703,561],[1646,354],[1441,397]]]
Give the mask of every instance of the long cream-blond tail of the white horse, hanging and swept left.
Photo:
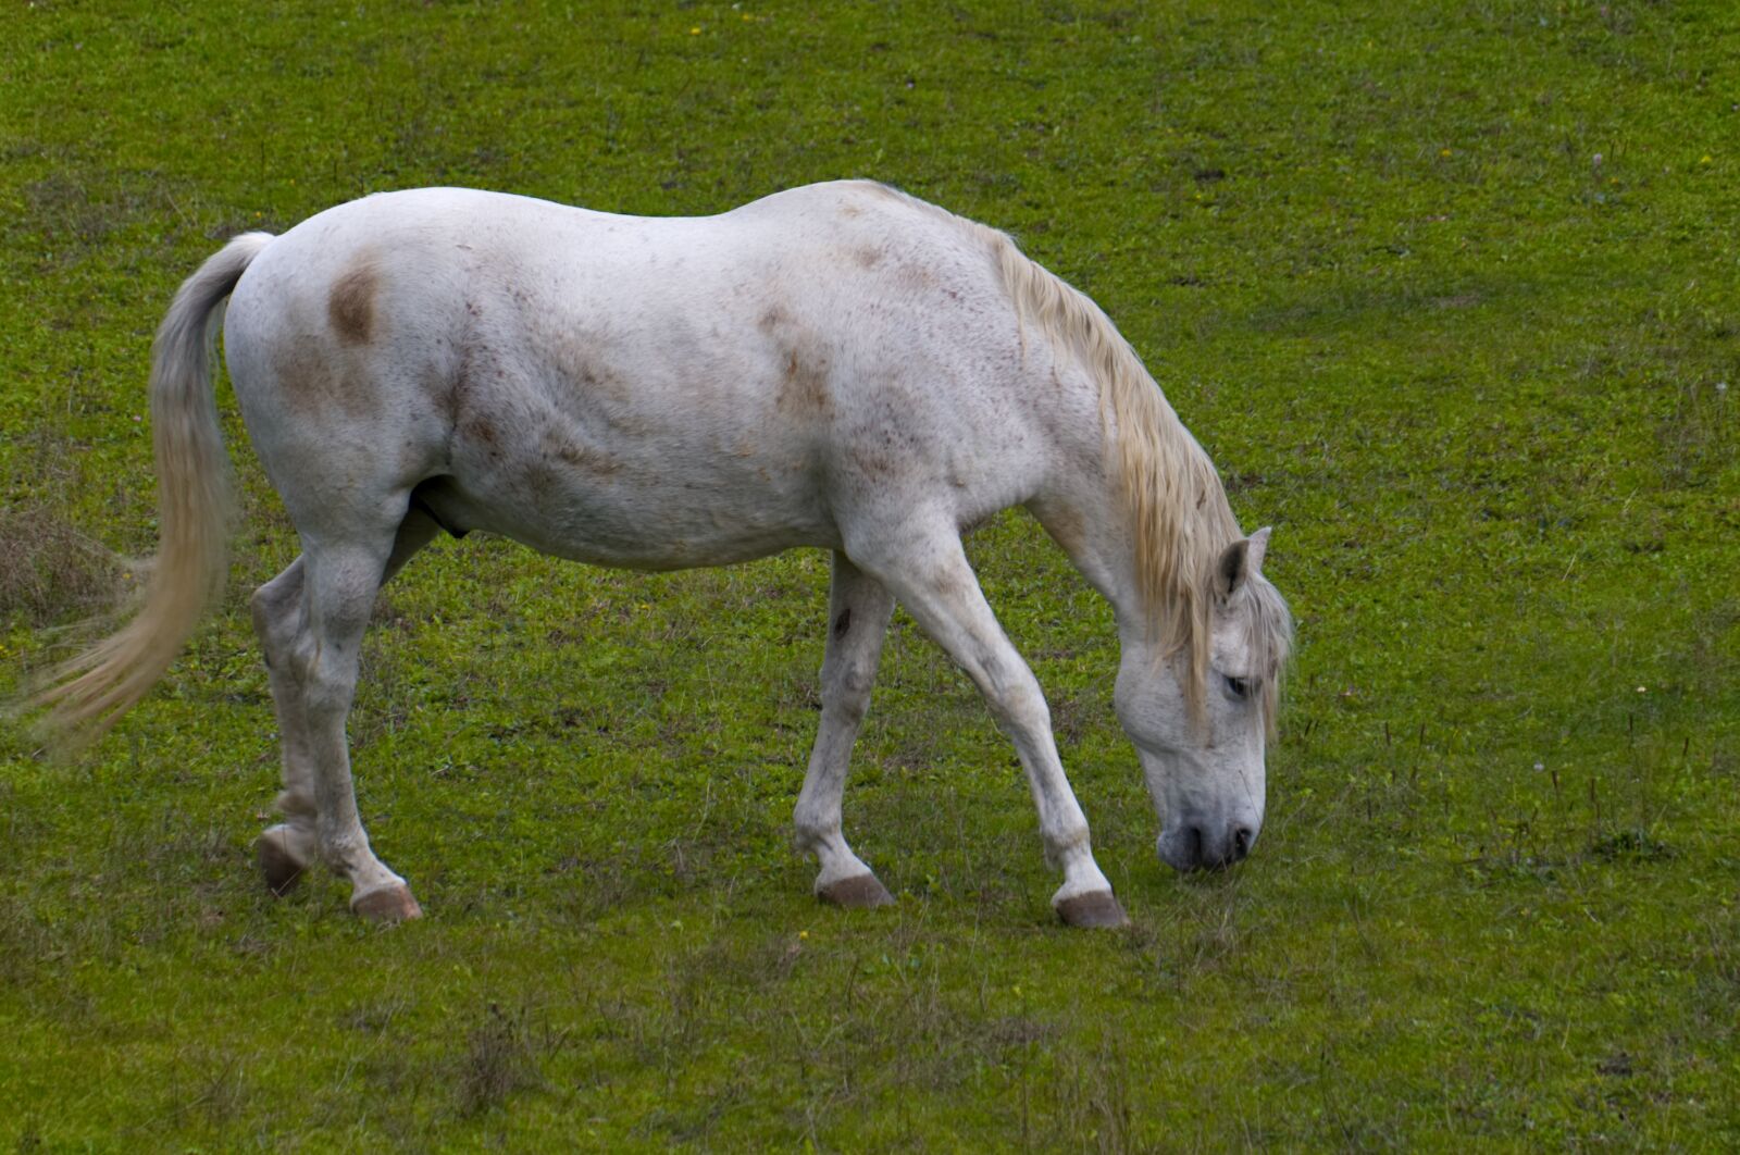
[[[31,704],[61,744],[111,727],[157,684],[223,591],[231,494],[218,428],[211,355],[221,306],[271,242],[244,233],[183,282],[151,346],[151,440],[157,451],[158,551],[144,597],[117,633],[50,671]]]

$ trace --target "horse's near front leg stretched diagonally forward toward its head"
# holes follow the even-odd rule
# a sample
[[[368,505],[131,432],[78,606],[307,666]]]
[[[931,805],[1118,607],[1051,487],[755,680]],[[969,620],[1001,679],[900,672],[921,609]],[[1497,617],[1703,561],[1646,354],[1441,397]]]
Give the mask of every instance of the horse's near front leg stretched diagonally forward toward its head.
[[[1063,885],[1051,896],[1051,908],[1077,927],[1128,924],[1112,884],[1093,859],[1088,818],[1063,776],[1039,680],[997,624],[952,522],[926,522],[905,513],[880,531],[861,534],[860,543],[847,548],[966,670],[997,725],[1014,743],[1039,809],[1046,861],[1063,870]]]

